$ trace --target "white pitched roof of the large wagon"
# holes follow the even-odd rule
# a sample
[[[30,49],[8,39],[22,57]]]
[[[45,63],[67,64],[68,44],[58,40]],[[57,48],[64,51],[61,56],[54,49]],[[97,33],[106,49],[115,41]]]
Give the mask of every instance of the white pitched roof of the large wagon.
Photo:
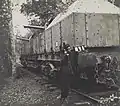
[[[66,12],[58,14],[46,29],[59,23],[72,13],[120,14],[120,8],[106,0],[77,0],[68,7]]]

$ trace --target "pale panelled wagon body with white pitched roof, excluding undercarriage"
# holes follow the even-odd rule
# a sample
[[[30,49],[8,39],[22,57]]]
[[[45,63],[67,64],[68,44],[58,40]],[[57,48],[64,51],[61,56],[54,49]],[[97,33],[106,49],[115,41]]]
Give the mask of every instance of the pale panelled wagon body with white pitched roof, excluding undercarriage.
[[[107,1],[77,0],[41,36],[33,38],[33,54],[58,52],[63,42],[71,47],[119,46],[119,14],[119,8]]]

